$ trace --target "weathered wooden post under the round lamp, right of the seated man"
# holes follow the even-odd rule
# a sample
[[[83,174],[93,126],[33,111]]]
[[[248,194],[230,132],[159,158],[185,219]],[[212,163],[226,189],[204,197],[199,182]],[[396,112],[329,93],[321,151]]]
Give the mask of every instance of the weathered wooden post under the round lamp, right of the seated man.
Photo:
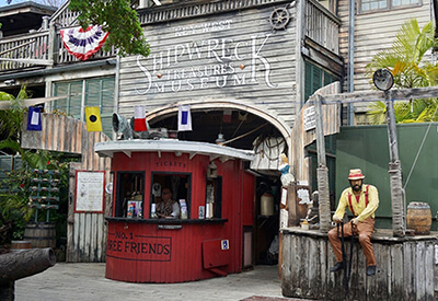
[[[399,146],[396,139],[394,103],[391,101],[391,91],[384,92],[388,114],[388,140],[390,143],[390,184],[392,206],[392,231],[394,236],[405,235],[404,205],[402,194],[402,166],[399,160]]]

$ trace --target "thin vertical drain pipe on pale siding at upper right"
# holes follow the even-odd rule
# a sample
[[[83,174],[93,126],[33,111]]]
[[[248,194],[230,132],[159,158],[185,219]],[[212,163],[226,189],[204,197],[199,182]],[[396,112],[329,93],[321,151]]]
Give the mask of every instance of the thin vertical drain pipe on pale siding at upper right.
[[[349,0],[348,13],[348,92],[355,92],[355,0]],[[347,124],[353,126],[354,104],[348,104]]]

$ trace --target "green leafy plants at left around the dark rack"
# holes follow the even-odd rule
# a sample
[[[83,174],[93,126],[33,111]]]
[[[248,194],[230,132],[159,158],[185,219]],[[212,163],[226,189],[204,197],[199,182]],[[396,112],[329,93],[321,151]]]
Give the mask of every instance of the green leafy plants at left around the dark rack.
[[[62,153],[49,152],[46,150],[25,150],[21,148],[21,129],[23,115],[27,108],[22,106],[22,100],[27,97],[25,86],[19,95],[1,92],[0,101],[11,102],[11,108],[0,111],[0,150],[14,154],[15,160],[21,159],[22,164],[7,172],[7,178],[1,184],[0,210],[7,220],[14,221],[12,239],[22,239],[26,223],[35,217],[35,209],[30,208],[30,189],[34,184],[33,170],[59,170],[59,209],[50,212],[50,221],[56,222],[57,235],[66,236],[69,163],[74,159],[66,159]],[[37,221],[45,221],[45,215],[39,215]]]

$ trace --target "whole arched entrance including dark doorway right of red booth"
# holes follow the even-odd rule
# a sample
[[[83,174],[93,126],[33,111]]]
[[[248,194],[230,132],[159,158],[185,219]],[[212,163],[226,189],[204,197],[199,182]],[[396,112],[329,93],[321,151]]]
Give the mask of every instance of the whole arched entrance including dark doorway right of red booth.
[[[283,152],[289,155],[291,128],[267,107],[235,100],[174,103],[147,113],[149,125],[152,128],[176,129],[180,105],[191,106],[193,127],[192,131],[178,132],[180,140],[215,143],[221,134],[228,147],[255,150],[261,158],[269,158],[270,163],[245,166],[256,177],[253,227],[243,229],[243,268],[253,264],[275,265],[281,197],[278,155]],[[260,148],[261,143],[266,144]],[[262,202],[266,198],[274,199],[273,210],[265,208],[266,202]]]

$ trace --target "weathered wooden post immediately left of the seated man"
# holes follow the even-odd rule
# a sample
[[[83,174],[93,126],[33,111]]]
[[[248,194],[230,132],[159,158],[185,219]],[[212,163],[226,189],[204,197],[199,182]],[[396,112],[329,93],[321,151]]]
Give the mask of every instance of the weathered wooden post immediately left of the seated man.
[[[315,121],[316,121],[316,150],[318,150],[318,192],[320,199],[320,231],[327,233],[332,228],[330,213],[330,193],[328,193],[328,169],[325,160],[325,139],[324,124],[322,118],[323,96],[314,96]]]

